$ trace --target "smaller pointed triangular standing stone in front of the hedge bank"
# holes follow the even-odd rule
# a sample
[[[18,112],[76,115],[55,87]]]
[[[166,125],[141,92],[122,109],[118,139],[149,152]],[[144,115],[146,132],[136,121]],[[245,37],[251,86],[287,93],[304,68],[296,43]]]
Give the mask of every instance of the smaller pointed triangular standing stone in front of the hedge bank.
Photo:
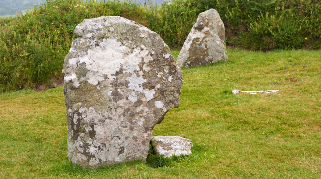
[[[215,9],[200,13],[178,55],[178,66],[191,67],[227,61],[224,41],[225,28],[219,13]]]

